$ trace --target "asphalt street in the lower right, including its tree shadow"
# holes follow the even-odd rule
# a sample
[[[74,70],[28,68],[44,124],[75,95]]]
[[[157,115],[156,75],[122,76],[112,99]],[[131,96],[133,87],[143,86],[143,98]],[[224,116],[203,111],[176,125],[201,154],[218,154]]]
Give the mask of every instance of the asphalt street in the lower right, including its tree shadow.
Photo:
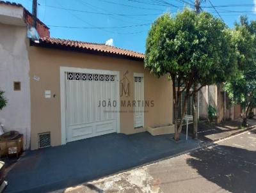
[[[64,191],[256,192],[256,130]]]

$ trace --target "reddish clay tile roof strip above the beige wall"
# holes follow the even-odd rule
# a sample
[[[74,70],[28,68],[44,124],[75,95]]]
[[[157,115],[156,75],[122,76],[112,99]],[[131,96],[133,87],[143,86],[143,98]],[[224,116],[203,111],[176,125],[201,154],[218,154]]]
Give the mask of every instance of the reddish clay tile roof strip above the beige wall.
[[[144,54],[140,52],[134,52],[132,50],[120,49],[111,45],[105,45],[104,43],[89,43],[80,42],[74,40],[63,40],[58,38],[40,38],[40,43],[47,43],[50,45],[61,45],[64,47],[77,48],[83,50],[92,50],[95,52],[104,52],[108,54],[115,54],[117,56],[128,56],[131,58],[144,59]]]

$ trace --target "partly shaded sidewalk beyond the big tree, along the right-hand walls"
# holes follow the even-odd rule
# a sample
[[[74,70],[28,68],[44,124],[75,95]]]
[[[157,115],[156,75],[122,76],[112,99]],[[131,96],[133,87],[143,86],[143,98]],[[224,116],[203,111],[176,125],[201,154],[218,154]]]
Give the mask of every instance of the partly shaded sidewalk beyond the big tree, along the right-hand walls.
[[[225,139],[232,135],[240,134],[246,130],[250,130],[256,127],[256,119],[252,120],[248,119],[248,127],[241,127],[241,119],[233,120],[233,121],[225,121],[223,123],[209,123],[207,121],[202,121],[198,123],[198,139],[212,143],[215,141],[219,141],[221,139]],[[190,124],[188,127],[188,134],[192,136],[193,132],[193,124]],[[186,134],[186,125],[182,128],[182,133]]]

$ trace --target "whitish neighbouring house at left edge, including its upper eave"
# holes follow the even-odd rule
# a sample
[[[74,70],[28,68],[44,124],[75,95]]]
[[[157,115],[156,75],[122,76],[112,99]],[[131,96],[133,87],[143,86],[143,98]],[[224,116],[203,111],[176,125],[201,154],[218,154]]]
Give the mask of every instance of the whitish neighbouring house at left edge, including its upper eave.
[[[8,104],[0,111],[4,130],[18,130],[24,134],[24,148],[30,144],[30,80],[26,38],[31,14],[21,4],[0,1],[0,89]],[[38,20],[40,36],[49,30]]]

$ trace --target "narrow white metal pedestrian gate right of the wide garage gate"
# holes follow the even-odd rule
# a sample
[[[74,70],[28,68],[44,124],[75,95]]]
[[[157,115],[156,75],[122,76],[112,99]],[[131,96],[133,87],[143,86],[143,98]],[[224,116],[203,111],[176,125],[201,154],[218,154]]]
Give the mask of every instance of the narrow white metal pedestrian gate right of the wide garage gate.
[[[144,127],[144,75],[134,73],[134,128]]]

